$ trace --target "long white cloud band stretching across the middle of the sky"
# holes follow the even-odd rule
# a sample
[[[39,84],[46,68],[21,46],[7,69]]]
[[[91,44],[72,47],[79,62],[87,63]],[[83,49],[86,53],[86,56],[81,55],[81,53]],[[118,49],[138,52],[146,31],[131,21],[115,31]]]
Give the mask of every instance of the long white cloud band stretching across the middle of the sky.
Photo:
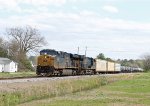
[[[27,12],[30,10],[26,10]],[[40,11],[40,10],[39,10]],[[42,10],[41,10],[42,11]],[[134,21],[126,21],[121,19],[101,18],[92,11],[81,11],[80,13],[64,13],[56,12],[50,13],[44,8],[45,12],[33,11],[31,15],[24,16],[11,16],[5,19],[1,19],[1,22],[8,24],[20,24],[29,23],[42,26],[54,26],[61,29],[64,32],[100,32],[100,31],[150,31],[150,23],[138,23]],[[23,25],[24,25],[23,24]],[[3,25],[1,24],[1,27]],[[50,30],[50,29],[47,29]]]

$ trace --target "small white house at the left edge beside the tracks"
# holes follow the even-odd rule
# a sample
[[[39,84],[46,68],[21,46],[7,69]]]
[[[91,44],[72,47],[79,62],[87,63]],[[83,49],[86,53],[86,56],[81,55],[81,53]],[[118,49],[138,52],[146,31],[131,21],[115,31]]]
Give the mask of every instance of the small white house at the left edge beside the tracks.
[[[0,72],[17,72],[18,63],[8,58],[0,57]]]

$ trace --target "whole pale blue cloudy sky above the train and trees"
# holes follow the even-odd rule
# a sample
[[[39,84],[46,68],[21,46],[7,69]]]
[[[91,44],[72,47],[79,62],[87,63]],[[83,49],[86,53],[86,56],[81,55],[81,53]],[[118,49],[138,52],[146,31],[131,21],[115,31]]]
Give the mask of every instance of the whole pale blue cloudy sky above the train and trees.
[[[0,36],[32,26],[55,49],[112,59],[150,52],[149,0],[0,0]]]

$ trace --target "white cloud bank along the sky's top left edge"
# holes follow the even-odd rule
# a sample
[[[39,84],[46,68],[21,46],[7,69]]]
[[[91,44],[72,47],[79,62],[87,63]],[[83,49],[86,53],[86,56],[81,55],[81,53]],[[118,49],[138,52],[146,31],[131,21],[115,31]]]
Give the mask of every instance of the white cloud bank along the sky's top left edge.
[[[0,0],[0,10],[19,13],[45,12],[50,6],[60,7],[66,3],[86,2],[86,0]],[[21,7],[28,5],[30,8]],[[74,9],[77,9],[75,6]]]

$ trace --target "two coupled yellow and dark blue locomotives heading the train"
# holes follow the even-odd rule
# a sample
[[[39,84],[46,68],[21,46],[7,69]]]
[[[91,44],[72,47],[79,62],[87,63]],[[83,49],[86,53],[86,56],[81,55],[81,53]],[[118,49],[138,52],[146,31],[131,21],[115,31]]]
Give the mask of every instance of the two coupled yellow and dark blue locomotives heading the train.
[[[44,76],[95,73],[94,62],[84,55],[44,49],[37,58],[36,73]]]

